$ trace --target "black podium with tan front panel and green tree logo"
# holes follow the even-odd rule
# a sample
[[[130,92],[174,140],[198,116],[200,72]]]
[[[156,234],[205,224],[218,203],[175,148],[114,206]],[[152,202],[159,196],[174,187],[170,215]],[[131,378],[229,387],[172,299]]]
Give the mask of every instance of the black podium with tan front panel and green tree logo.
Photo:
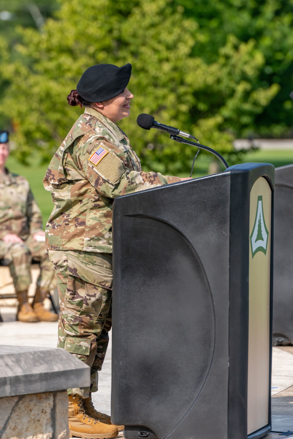
[[[112,422],[126,438],[271,430],[274,167],[116,198]]]

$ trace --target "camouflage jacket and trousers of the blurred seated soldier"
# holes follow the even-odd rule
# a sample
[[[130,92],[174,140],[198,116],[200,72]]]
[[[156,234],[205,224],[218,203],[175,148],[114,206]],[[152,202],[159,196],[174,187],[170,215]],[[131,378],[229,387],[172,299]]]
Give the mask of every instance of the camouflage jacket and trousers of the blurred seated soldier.
[[[29,182],[6,169],[0,175],[0,193],[0,259],[9,266],[15,290],[29,288],[33,258],[40,263],[37,286],[50,291],[56,287],[56,276],[45,242],[33,239],[33,235],[42,230],[42,215]],[[3,241],[7,233],[22,238],[22,242]]]

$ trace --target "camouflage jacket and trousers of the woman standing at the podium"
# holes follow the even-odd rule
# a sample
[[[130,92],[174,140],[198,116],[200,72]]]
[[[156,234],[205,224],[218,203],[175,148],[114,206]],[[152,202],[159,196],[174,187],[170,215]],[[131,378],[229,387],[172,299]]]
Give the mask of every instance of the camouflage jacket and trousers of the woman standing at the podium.
[[[98,150],[103,158],[95,164],[91,157]],[[86,398],[98,389],[111,328],[114,198],[176,181],[143,172],[127,136],[92,108],[85,109],[52,158],[43,183],[55,204],[46,244],[58,276],[58,346],[91,368],[90,388],[69,394]]]

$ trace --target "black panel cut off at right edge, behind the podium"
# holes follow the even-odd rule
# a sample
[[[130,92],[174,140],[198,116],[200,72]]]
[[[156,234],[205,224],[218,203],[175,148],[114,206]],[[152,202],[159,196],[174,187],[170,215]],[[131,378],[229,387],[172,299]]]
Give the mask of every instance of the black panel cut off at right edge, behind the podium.
[[[293,343],[293,165],[275,169],[273,344]]]

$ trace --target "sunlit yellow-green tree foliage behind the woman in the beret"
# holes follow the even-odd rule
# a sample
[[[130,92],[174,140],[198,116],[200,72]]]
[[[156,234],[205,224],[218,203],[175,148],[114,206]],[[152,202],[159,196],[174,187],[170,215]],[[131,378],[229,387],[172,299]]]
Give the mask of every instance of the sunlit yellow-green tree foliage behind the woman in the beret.
[[[214,32],[213,44],[213,30],[207,37],[210,25],[200,25],[188,4],[179,3],[62,0],[42,32],[22,29],[18,59],[11,62],[2,41],[0,75],[8,86],[0,111],[13,123],[18,158],[25,160],[37,148],[47,159],[56,150],[80,114],[66,96],[87,67],[130,62],[134,100],[130,118],[120,126],[144,169],[186,172],[194,148],[158,130],[138,128],[135,119],[141,112],[191,132],[232,160],[235,135],[254,127],[278,94],[279,83],[260,79],[268,65],[253,36],[241,41],[233,29],[224,29],[223,35]],[[212,3],[205,2],[208,7]]]

